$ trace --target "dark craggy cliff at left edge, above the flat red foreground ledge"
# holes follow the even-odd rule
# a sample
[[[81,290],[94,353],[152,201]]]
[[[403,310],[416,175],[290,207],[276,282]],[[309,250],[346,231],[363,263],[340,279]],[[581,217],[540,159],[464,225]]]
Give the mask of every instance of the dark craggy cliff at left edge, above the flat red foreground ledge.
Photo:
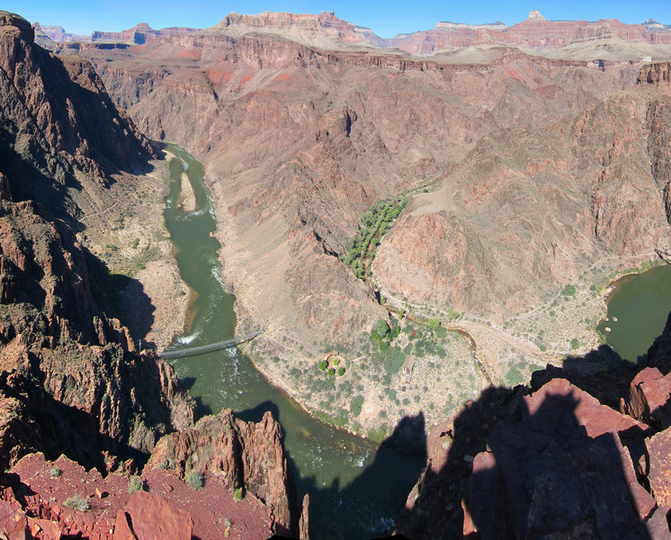
[[[172,368],[140,355],[128,330],[105,314],[107,270],[65,221],[52,220],[76,222],[68,183],[104,183],[106,171],[147,157],[148,145],[132,135],[90,64],[68,58],[68,71],[32,43],[27,22],[12,14],[0,21],[4,466],[31,450],[101,467],[102,452],[148,455],[157,437],[192,423],[193,402]],[[44,206],[12,200],[23,198]]]

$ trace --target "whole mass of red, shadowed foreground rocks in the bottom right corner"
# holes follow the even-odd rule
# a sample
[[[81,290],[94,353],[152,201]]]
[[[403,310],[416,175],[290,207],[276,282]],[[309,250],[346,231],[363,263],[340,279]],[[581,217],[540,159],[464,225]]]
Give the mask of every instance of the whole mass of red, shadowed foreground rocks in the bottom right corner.
[[[670,351],[671,318],[639,365],[602,346],[488,388],[428,437],[398,532],[669,537]]]

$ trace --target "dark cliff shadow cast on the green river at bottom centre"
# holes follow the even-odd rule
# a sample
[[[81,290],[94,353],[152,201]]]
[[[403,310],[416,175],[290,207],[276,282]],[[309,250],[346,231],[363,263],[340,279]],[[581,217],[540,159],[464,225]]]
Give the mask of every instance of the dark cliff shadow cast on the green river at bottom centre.
[[[282,422],[280,411],[272,401],[264,401],[236,416],[258,421],[270,410]],[[351,482],[341,485],[337,478],[329,485],[319,485],[313,476],[301,476],[288,452],[291,473],[302,497],[309,494],[309,538],[376,538],[390,534],[405,496],[417,482],[426,460],[425,418],[420,412],[398,422],[393,433],[375,451],[371,464]],[[300,509],[295,509],[296,516]],[[386,516],[388,518],[380,518]],[[302,537],[302,536],[301,536]]]

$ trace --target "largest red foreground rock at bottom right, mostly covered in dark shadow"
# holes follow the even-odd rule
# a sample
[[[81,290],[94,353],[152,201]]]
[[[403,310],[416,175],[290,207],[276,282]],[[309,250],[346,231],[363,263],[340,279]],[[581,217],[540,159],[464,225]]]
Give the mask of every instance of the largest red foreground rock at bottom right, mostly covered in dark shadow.
[[[522,538],[645,536],[656,501],[634,464],[648,426],[563,379],[519,407],[473,462],[467,506],[480,537],[499,538],[502,528]]]

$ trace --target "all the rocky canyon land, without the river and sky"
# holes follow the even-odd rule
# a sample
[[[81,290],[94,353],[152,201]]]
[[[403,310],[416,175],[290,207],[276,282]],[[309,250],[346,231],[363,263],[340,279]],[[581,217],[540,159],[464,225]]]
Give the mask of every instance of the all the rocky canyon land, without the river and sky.
[[[0,23],[0,527],[140,538],[165,509],[168,536],[217,537],[222,516],[233,537],[310,536],[276,419],[198,419],[137,345],[160,352],[187,309],[163,222],[143,217],[166,196],[154,139],[205,168],[238,327],[264,321],[241,346],[256,368],[353,433],[431,431],[398,531],[668,536],[669,325],[642,371],[595,331],[613,276],[671,247],[668,27],[532,12],[382,40],[333,13],[229,14],[82,39]],[[174,305],[131,317],[157,282]],[[559,462],[579,469],[566,522]],[[53,467],[64,482],[40,481]],[[126,489],[137,473],[148,493]],[[59,501],[83,493],[92,513]]]

